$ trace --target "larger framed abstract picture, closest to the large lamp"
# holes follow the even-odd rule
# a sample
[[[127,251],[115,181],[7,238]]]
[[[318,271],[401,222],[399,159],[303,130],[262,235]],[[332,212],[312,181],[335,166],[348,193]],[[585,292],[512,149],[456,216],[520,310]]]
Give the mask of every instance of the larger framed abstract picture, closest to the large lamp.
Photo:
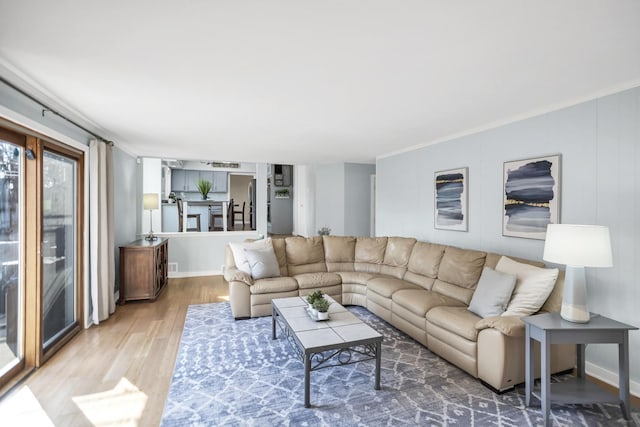
[[[502,234],[544,240],[560,221],[559,154],[504,163]]]

